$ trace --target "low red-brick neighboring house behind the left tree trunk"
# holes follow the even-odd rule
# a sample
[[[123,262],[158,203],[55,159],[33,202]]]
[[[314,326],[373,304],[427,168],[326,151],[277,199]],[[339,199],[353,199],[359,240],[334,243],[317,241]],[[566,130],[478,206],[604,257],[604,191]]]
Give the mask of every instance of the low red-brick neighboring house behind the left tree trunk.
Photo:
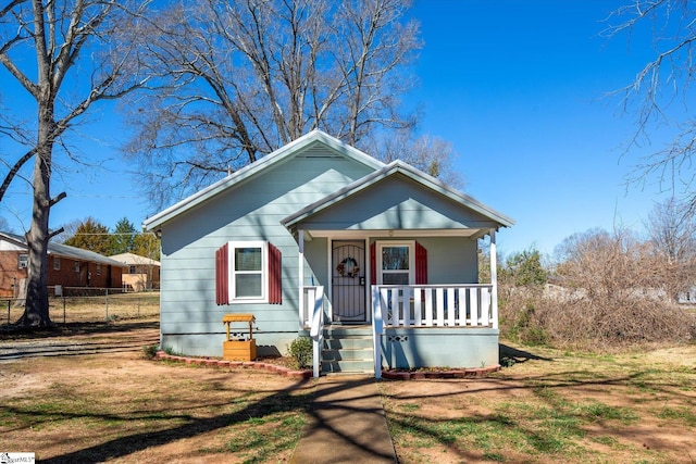
[[[23,236],[0,233],[0,297],[17,298],[23,293],[28,258]],[[123,264],[99,253],[67,244],[48,244],[49,287],[120,289],[122,274]]]

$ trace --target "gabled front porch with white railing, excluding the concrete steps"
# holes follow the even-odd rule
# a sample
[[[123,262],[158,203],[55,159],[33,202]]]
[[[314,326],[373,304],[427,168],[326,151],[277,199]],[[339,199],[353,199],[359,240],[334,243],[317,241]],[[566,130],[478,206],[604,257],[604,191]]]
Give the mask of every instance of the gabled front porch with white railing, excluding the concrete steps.
[[[497,365],[496,233],[510,218],[397,161],[282,224],[298,244],[299,329],[314,340],[315,376],[326,324],[372,327],[377,378],[383,367]]]

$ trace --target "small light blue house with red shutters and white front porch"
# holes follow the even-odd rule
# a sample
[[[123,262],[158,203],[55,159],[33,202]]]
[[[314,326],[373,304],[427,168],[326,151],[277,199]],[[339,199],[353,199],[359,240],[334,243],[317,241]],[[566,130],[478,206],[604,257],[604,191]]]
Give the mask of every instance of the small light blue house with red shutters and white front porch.
[[[497,365],[495,237],[512,225],[314,130],[145,222],[162,239],[161,347],[220,356],[223,316],[248,313],[259,355],[311,335],[315,375]]]

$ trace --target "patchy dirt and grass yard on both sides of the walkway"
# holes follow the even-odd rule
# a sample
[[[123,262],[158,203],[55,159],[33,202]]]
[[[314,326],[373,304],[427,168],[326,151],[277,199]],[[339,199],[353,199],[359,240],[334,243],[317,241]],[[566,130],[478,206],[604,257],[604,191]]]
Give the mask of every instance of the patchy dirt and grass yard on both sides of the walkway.
[[[313,380],[146,360],[156,322],[110,327],[0,340],[0,452],[289,461]],[[399,462],[696,461],[696,346],[614,356],[504,347],[504,360],[485,379],[383,381]]]

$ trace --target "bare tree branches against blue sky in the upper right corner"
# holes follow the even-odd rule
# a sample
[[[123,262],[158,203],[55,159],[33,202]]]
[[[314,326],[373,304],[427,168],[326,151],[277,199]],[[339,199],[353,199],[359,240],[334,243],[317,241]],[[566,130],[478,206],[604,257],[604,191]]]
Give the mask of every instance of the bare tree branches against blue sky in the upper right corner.
[[[650,145],[657,130],[672,137],[671,142],[639,159],[629,180],[644,184],[657,177],[661,189],[685,195],[694,210],[696,118],[689,105],[695,97],[696,10],[688,0],[633,0],[616,10],[607,24],[607,37],[625,35],[632,43],[647,37],[652,45],[652,59],[616,92],[623,110],[635,117],[636,131],[627,150]]]

